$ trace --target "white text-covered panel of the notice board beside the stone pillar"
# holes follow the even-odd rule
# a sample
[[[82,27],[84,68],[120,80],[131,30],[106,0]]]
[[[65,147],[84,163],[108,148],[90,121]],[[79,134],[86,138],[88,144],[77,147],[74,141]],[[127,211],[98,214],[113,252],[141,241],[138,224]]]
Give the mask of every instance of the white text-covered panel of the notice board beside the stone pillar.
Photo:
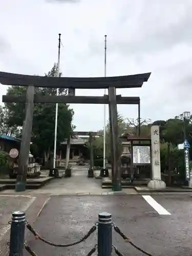
[[[133,146],[133,163],[150,164],[151,152],[150,146]]]

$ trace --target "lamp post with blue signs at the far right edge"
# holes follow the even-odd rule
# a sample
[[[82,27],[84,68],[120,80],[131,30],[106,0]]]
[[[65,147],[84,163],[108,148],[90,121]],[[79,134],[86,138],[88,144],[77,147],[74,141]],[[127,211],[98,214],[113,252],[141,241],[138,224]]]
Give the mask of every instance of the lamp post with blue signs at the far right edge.
[[[189,143],[186,137],[186,120],[190,118],[190,112],[183,112],[179,116],[175,118],[183,120],[183,134],[184,134],[184,161],[185,161],[185,180],[188,182],[188,186],[190,187],[190,170],[189,170]]]

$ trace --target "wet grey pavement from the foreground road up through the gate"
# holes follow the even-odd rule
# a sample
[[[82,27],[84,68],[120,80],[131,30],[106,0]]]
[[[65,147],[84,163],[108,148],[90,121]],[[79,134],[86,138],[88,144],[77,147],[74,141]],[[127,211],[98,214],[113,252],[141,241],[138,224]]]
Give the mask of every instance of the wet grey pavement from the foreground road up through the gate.
[[[0,231],[3,233],[6,230],[13,210],[27,209],[27,219],[39,234],[50,241],[66,244],[82,238],[98,220],[99,212],[108,211],[127,237],[153,255],[192,255],[191,193],[150,196],[149,193],[138,195],[129,188],[123,191],[132,195],[107,195],[110,189],[106,189],[106,193],[101,188],[101,180],[87,178],[88,168],[74,166],[72,172],[71,178],[54,179],[37,190],[27,190],[25,193],[2,191]],[[47,204],[36,219],[45,202]],[[5,238],[0,238],[0,255],[3,256],[8,255],[8,252],[4,252],[9,232],[6,234]],[[36,241],[28,232],[26,239],[37,256],[85,256],[97,243],[97,232],[86,242],[68,248],[52,247]],[[123,255],[143,255],[125,243],[115,231],[113,243]],[[1,252],[3,246],[5,250]]]

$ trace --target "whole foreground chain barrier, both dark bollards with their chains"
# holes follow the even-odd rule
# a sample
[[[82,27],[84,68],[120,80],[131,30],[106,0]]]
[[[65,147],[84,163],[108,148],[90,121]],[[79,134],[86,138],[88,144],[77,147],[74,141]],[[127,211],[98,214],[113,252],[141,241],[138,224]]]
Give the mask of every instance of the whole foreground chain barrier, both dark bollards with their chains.
[[[77,242],[73,242],[71,244],[56,244],[42,238],[33,228],[32,226],[26,221],[26,215],[24,211],[15,211],[12,213],[12,221],[9,222],[11,224],[11,233],[10,233],[10,242],[9,242],[9,256],[23,256],[23,249],[25,248],[30,255],[37,256],[34,251],[31,250],[30,246],[25,241],[25,226],[34,234],[35,239],[39,239],[42,242],[45,242],[49,245],[55,247],[69,247],[76,244],[79,244],[85,240],[87,240],[91,234],[96,230],[98,226],[98,244],[95,245],[91,251],[87,254],[87,256],[91,256],[96,249],[98,248],[98,256],[111,256],[112,250],[118,256],[122,256],[121,252],[112,245],[112,228],[120,234],[125,242],[130,243],[134,246],[137,250],[141,251],[142,253],[153,256],[151,253],[146,252],[145,250],[141,249],[140,247],[136,246],[130,238],[128,238],[114,223],[112,223],[112,215],[108,212],[102,212],[98,216],[98,223],[95,223],[89,232],[81,238]]]

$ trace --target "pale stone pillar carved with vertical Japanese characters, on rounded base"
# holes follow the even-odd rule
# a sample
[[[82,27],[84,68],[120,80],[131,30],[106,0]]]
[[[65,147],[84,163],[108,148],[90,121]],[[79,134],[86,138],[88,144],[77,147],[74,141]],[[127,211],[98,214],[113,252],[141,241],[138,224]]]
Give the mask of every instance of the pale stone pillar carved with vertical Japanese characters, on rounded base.
[[[161,189],[165,188],[164,181],[161,180],[161,162],[160,162],[160,141],[159,126],[151,127],[151,159],[152,159],[152,180],[148,183],[148,188]]]

